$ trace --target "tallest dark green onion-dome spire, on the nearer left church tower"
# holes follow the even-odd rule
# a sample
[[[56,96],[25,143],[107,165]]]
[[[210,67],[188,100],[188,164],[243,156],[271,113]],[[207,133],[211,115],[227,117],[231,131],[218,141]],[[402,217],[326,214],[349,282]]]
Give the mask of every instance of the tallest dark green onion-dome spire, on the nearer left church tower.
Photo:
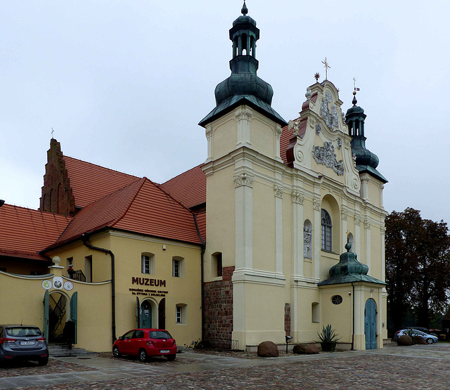
[[[259,29],[255,20],[247,15],[245,1],[241,12],[242,15],[233,22],[230,30],[233,42],[231,76],[216,86],[216,108],[199,124],[205,127],[239,105],[249,105],[281,126],[286,126],[285,120],[271,108],[274,90],[257,76],[259,62],[256,59],[256,41],[259,39]]]

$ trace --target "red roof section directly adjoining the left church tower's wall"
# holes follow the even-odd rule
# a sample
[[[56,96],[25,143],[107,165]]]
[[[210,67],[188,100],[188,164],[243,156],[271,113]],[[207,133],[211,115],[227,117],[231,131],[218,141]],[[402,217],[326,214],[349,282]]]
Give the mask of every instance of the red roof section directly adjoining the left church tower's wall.
[[[160,184],[170,196],[190,209],[206,202],[206,176],[203,165],[193,167],[174,178]]]

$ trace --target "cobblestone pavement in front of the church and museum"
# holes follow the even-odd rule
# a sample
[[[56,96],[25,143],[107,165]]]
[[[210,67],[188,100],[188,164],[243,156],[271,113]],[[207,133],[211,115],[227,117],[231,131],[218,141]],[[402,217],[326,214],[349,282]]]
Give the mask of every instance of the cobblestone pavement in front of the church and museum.
[[[0,389],[450,389],[449,363],[444,343],[278,358],[187,351],[173,363],[51,358],[48,371],[1,368]]]

